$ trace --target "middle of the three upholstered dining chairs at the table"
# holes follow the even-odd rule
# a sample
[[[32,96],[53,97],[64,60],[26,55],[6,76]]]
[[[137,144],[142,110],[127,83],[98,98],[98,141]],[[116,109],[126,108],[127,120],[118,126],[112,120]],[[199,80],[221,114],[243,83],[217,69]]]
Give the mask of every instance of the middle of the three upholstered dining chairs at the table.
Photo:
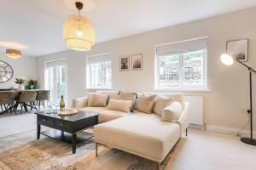
[[[17,104],[15,105],[15,113],[17,111],[18,106],[20,105],[20,115],[22,114],[23,108],[27,111],[27,106],[31,107],[38,111],[36,105],[37,92],[36,91],[23,91],[21,92],[19,98],[17,99]]]

